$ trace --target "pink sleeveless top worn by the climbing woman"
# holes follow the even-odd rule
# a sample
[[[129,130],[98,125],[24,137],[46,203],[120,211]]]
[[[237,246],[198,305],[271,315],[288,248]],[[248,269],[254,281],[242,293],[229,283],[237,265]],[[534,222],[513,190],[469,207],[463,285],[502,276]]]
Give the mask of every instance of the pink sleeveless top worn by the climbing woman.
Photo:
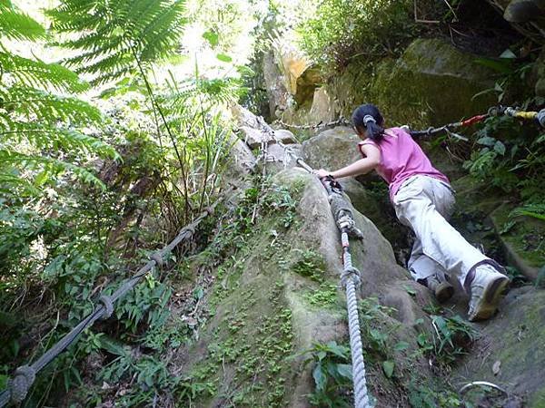
[[[431,165],[430,159],[411,135],[401,128],[386,129],[384,138],[378,143],[370,139],[358,143],[363,157],[364,144],[376,146],[381,151],[381,164],[375,170],[388,183],[391,201],[403,181],[412,176],[428,176],[449,183],[449,179]]]

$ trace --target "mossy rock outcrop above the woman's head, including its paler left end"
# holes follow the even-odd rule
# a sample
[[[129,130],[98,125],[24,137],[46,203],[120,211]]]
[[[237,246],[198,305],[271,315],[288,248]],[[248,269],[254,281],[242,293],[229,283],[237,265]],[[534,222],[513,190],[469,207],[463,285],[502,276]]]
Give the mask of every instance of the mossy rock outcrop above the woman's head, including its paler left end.
[[[398,60],[384,60],[371,72],[367,61],[355,59],[318,87],[312,101],[289,107],[283,121],[315,124],[339,116],[350,118],[359,104],[377,104],[388,125],[430,125],[458,121],[486,112],[496,98],[477,93],[493,87],[495,74],[439,39],[414,41]],[[429,114],[427,112],[433,112]]]

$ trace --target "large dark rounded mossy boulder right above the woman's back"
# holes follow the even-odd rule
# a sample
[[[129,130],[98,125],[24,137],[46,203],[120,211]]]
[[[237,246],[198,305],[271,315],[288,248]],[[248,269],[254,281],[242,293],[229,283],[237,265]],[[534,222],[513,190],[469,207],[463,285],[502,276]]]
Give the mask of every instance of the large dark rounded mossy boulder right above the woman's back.
[[[428,127],[486,112],[497,101],[490,92],[495,73],[439,39],[418,39],[399,60],[376,70],[370,101],[392,124]]]

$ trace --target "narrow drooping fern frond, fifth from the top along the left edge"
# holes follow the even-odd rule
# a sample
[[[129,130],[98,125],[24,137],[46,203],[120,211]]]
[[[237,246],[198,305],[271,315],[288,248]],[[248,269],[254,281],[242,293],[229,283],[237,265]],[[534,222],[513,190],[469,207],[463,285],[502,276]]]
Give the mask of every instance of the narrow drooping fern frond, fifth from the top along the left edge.
[[[104,182],[94,176],[91,171],[85,170],[84,168],[75,166],[74,164],[63,160],[58,160],[47,156],[27,155],[16,151],[0,149],[0,161],[3,163],[13,164],[25,170],[47,170],[57,174],[61,172],[68,172],[86,184],[94,185],[94,187],[103,190],[106,189]],[[3,173],[3,176],[5,176],[5,173]]]

